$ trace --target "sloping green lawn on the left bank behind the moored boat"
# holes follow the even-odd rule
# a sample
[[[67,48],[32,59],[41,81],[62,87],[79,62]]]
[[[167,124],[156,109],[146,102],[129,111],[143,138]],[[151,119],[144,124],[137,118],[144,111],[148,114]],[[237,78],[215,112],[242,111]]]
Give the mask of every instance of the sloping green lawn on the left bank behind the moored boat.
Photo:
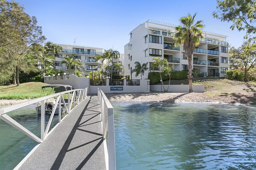
[[[40,97],[42,86],[48,85],[42,82],[29,82],[20,84],[20,86],[9,85],[0,86],[0,99],[26,99],[26,98],[38,98]],[[53,93],[64,91],[61,87],[54,88]],[[45,88],[45,94],[41,96],[49,95],[51,88]]]

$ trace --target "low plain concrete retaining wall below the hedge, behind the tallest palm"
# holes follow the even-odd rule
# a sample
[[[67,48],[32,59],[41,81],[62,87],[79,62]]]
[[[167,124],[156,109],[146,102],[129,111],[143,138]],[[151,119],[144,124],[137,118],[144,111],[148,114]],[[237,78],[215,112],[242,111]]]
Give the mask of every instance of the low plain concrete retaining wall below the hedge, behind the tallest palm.
[[[168,85],[164,85],[164,89],[167,89]],[[162,91],[164,92],[163,86]],[[192,85],[193,92],[204,92],[205,85]],[[150,91],[161,92],[161,85],[150,85]],[[168,92],[188,92],[188,85],[170,85]]]

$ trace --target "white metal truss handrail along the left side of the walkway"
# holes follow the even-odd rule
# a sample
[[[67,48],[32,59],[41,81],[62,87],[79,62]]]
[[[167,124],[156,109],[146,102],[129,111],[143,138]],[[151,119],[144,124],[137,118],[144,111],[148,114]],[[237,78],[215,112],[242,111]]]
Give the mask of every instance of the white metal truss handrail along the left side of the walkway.
[[[66,104],[65,104],[65,101],[63,98],[64,94],[68,94],[68,106],[66,106]],[[70,101],[70,94],[72,94],[71,101]],[[36,98],[36,99],[30,100],[30,101],[25,101],[23,103],[18,103],[18,104],[14,104],[12,106],[1,108],[0,109],[0,118],[3,121],[6,121],[11,126],[15,127],[17,130],[20,130],[22,133],[29,136],[33,140],[35,140],[39,143],[42,143],[42,141],[44,141],[45,138],[47,138],[48,135],[50,135],[50,133],[55,129],[55,128],[53,128],[53,130],[48,132],[50,129],[50,126],[51,126],[51,122],[54,117],[54,112],[57,109],[57,107],[59,107],[59,123],[56,124],[55,127],[57,127],[60,124],[60,122],[63,121],[63,119],[66,117],[66,115],[65,115],[65,117],[61,118],[61,107],[62,107],[61,102],[64,103],[63,107],[65,107],[65,110],[69,113],[72,110],[71,109],[72,104],[74,104],[73,106],[75,107],[76,106],[75,103],[79,104],[80,101],[82,101],[87,95],[88,95],[88,87],[86,87],[85,89],[74,89],[74,90],[68,90],[65,92],[55,93],[53,95],[43,96],[41,98]],[[52,114],[48,121],[47,127],[45,129],[45,101],[48,100],[49,98],[54,98],[56,96],[57,96],[57,99],[55,101],[55,105],[52,110]],[[32,132],[27,130],[25,127],[23,127],[21,124],[19,124],[17,121],[15,121],[14,119],[12,119],[11,117],[9,117],[6,114],[13,110],[20,109],[22,107],[29,106],[30,104],[35,104],[35,103],[39,103],[39,102],[41,102],[41,138],[37,137],[35,134],[33,134]]]

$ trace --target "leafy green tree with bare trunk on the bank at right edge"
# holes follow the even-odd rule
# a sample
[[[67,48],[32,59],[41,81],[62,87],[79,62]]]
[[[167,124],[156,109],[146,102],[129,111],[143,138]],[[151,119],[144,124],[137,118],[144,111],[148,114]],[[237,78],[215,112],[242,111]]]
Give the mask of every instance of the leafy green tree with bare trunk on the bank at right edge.
[[[238,49],[229,50],[229,68],[244,70],[244,81],[247,81],[247,72],[256,66],[256,43],[244,41]]]

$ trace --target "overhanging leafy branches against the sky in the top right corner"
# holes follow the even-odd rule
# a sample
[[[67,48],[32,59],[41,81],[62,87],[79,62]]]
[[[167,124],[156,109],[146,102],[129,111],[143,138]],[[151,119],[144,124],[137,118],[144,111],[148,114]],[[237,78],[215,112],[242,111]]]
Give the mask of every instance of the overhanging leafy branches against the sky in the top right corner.
[[[217,10],[213,16],[221,21],[232,21],[232,30],[246,30],[248,34],[256,33],[256,1],[255,0],[217,0]]]

